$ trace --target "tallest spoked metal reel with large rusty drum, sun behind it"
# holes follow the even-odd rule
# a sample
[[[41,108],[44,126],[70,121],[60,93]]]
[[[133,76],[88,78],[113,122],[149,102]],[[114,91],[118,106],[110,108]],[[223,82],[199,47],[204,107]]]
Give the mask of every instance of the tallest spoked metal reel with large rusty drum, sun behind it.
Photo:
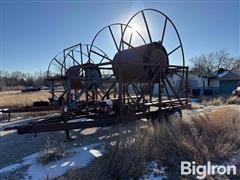
[[[162,24],[159,23],[161,21]],[[185,59],[182,42],[175,25],[167,15],[155,9],[144,9],[137,12],[126,25],[134,26],[136,22],[141,25],[140,33],[147,39],[147,43],[134,45],[127,42],[125,40],[127,36],[125,28],[120,44],[125,44],[131,49],[119,51],[115,55],[113,61],[115,75],[121,82],[126,84],[127,87],[125,89],[127,89],[129,96],[132,94],[140,96],[136,103],[144,101],[145,95],[149,96],[148,102],[151,102],[156,83],[159,83],[159,102],[162,100],[163,92],[165,92],[165,96],[169,100],[179,98],[185,93],[182,90],[186,69],[184,69]],[[150,27],[150,24],[152,27]],[[157,31],[153,29],[156,24],[161,24],[159,27],[161,29],[157,29]],[[165,37],[166,34],[170,34],[168,31],[171,31],[171,35],[176,37],[175,40],[177,42],[175,42],[175,46],[165,45],[169,42]],[[172,42],[171,37],[170,41]],[[176,52],[177,59],[174,59],[172,56]],[[131,63],[133,64],[132,66]],[[178,76],[178,84],[176,86],[170,81],[170,77],[173,74]]]

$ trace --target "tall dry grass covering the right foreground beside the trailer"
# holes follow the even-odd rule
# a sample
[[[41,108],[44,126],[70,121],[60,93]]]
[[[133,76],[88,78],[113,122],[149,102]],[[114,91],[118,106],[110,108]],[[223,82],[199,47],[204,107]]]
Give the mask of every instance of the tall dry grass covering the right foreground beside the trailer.
[[[169,167],[174,178],[180,178],[183,160],[217,163],[239,153],[239,113],[238,109],[223,108],[191,121],[131,127],[131,133],[120,133],[106,146],[103,157],[59,179],[137,179],[146,173],[146,162],[151,160]]]

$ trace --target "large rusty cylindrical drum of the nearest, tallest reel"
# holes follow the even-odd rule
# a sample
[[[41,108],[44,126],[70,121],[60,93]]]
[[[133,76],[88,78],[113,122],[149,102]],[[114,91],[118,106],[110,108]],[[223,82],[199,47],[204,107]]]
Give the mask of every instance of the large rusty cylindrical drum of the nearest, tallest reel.
[[[124,83],[145,83],[157,72],[168,69],[165,48],[157,42],[119,51],[113,59],[113,73]]]

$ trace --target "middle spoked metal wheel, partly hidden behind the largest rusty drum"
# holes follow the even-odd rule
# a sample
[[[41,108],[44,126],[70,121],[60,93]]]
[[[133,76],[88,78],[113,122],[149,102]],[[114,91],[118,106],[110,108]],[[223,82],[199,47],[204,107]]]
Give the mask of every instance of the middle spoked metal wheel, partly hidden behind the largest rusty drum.
[[[113,94],[114,97],[117,96],[116,91],[118,82],[115,74],[113,73],[112,63],[114,55],[117,52],[130,48],[129,46],[121,44],[124,30],[129,32],[129,36],[127,37],[128,42],[131,43],[132,41],[140,41],[141,43],[146,43],[139,32],[123,23],[114,23],[103,27],[97,32],[91,43],[90,57],[94,59],[94,61],[97,61],[96,64],[98,64],[102,74],[104,74],[102,82],[105,89],[107,87],[107,91],[105,91],[105,93],[103,92],[104,95],[102,96],[102,99],[106,97],[109,98],[111,94]],[[109,45],[112,45],[114,48],[110,49]],[[93,49],[94,46],[101,47],[101,50],[105,52],[107,57],[95,52]]]

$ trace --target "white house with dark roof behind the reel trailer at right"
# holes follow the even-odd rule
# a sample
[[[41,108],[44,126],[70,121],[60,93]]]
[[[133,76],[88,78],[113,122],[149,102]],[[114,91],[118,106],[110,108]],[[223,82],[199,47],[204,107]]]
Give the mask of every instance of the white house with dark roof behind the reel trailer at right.
[[[185,83],[182,78],[176,74],[168,76],[172,87],[181,96],[185,94]],[[219,69],[209,76],[195,72],[188,72],[188,92],[190,96],[212,96],[212,95],[231,95],[232,91],[240,86],[240,72],[232,70]],[[167,85],[168,94],[174,96],[171,88]],[[178,91],[180,90],[180,91]],[[153,95],[158,94],[158,85],[154,85]],[[163,95],[167,95],[163,91]]]

